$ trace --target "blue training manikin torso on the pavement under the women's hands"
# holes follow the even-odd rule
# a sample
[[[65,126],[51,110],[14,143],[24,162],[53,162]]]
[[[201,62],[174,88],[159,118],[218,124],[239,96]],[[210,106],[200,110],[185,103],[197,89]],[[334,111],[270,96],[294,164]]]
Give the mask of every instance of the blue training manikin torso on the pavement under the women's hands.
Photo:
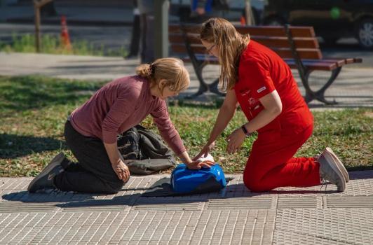
[[[177,193],[205,193],[226,187],[226,180],[223,169],[218,164],[193,170],[182,163],[172,171],[171,186]]]

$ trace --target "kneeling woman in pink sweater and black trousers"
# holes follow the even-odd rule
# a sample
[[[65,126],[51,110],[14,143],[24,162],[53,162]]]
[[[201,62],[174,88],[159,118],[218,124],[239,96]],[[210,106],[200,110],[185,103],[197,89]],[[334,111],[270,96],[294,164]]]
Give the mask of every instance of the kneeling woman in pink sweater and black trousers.
[[[157,59],[137,67],[137,76],[107,83],[73,111],[65,124],[67,146],[78,160],[57,155],[29,184],[29,192],[46,188],[84,193],[118,193],[130,171],[118,152],[116,137],[149,114],[172,151],[191,169],[209,167],[192,162],[168,115],[165,99],[189,86],[189,73],[175,58]]]

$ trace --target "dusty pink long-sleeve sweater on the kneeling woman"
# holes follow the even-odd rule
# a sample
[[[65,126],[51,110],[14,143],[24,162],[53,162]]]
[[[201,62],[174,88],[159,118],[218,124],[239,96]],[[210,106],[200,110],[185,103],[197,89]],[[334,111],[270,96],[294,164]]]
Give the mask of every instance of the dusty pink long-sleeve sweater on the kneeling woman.
[[[118,134],[141,123],[149,114],[172,151],[177,155],[186,151],[168,116],[165,101],[152,96],[148,80],[140,76],[126,76],[107,83],[72,112],[70,122],[80,134],[113,144]]]

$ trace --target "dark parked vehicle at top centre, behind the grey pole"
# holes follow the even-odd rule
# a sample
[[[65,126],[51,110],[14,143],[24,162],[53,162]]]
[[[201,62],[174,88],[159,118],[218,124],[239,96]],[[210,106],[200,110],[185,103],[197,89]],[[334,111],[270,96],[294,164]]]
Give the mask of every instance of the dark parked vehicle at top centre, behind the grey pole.
[[[250,0],[256,25],[262,20],[265,0]],[[214,0],[212,12],[208,16],[218,16],[230,21],[240,21],[245,10],[245,0]],[[191,16],[191,0],[171,0],[170,14],[177,15],[180,21],[187,22]]]

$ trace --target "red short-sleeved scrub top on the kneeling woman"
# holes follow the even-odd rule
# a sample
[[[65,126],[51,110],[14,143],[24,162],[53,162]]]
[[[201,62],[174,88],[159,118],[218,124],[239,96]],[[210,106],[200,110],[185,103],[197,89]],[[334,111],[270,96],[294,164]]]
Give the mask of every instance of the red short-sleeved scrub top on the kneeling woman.
[[[290,67],[280,56],[260,43],[250,41],[240,56],[238,81],[233,87],[248,120],[264,109],[259,102],[264,95],[277,90],[283,111],[271,123],[257,130],[283,130],[298,133],[313,124],[313,116],[299,92]]]

